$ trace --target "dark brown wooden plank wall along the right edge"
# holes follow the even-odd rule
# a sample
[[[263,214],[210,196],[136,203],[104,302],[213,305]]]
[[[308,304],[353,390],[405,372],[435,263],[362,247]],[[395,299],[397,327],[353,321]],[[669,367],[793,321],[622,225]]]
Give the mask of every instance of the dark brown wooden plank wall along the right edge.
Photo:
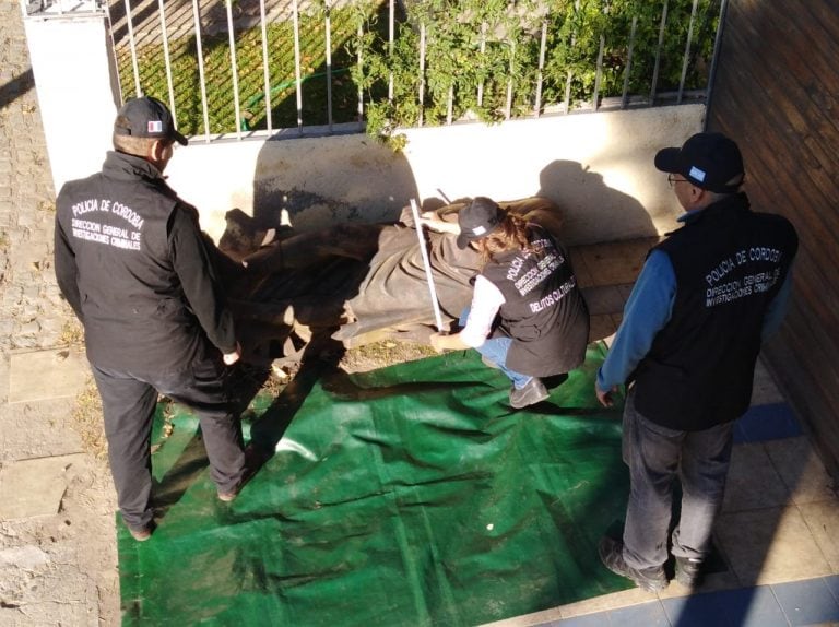
[[[731,0],[708,126],[737,140],[757,211],[787,215],[801,249],[779,336],[779,386],[839,473],[839,5]],[[839,476],[839,474],[837,474]]]

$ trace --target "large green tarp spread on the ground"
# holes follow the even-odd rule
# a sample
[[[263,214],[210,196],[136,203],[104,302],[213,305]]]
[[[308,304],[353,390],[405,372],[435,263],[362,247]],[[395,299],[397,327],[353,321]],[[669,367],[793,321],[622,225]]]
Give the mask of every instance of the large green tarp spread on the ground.
[[[118,525],[123,624],[469,626],[627,588],[596,555],[628,494],[603,355],[524,411],[474,352],[304,368],[246,421],[275,452],[232,504],[194,418],[158,419],[159,527]]]

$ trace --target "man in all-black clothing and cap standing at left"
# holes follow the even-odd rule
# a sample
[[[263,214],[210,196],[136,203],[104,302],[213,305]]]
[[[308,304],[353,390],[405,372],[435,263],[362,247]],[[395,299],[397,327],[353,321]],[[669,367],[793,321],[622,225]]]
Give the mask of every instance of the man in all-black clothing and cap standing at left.
[[[157,393],[193,407],[218,498],[245,477],[241,426],[224,365],[239,358],[198,211],[166,185],[175,142],[166,106],[128,100],[101,173],[67,182],[56,201],[56,276],[84,324],[103,403],[108,458],[131,535],[153,530],[150,439]]]

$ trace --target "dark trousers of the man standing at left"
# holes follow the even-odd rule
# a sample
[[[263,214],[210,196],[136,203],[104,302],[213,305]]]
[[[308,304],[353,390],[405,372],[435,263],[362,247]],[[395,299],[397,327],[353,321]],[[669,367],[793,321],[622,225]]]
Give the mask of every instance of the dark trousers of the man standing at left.
[[[131,528],[152,521],[151,437],[158,392],[196,411],[220,492],[236,487],[245,474],[241,424],[231,409],[224,366],[215,348],[199,350],[178,372],[138,375],[93,367],[102,397],[108,461],[122,519]]]

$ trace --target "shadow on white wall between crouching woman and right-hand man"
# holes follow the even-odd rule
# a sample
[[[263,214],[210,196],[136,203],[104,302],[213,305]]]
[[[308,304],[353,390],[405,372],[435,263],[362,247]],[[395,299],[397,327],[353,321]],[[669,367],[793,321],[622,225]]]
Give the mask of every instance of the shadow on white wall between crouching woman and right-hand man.
[[[568,246],[658,235],[640,202],[579,162],[551,162],[539,182],[536,196],[553,200],[565,213],[563,242]]]

